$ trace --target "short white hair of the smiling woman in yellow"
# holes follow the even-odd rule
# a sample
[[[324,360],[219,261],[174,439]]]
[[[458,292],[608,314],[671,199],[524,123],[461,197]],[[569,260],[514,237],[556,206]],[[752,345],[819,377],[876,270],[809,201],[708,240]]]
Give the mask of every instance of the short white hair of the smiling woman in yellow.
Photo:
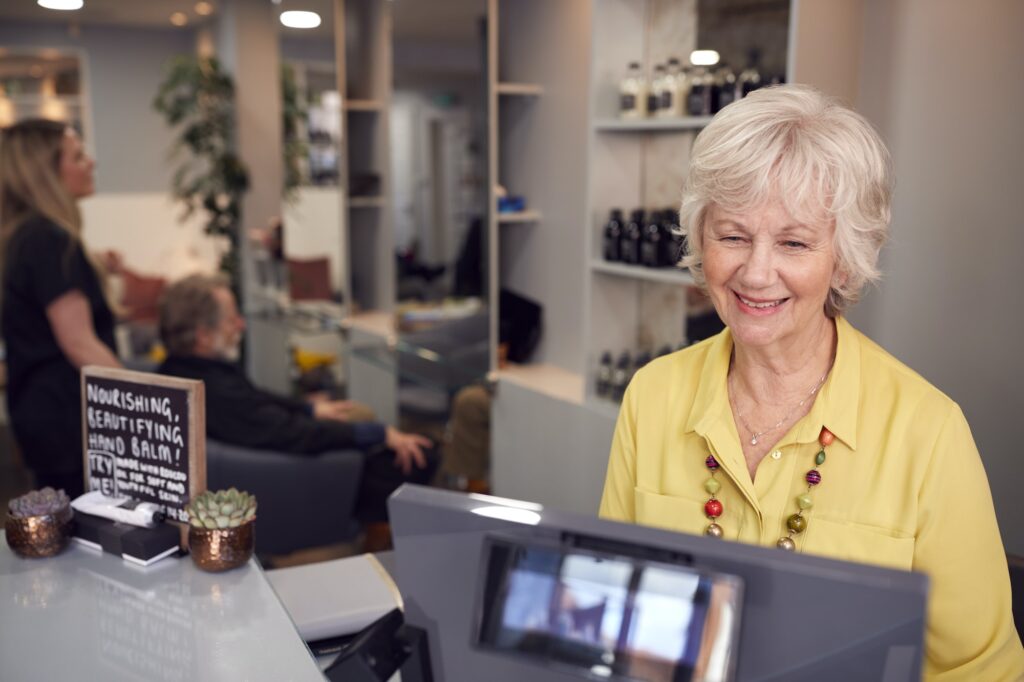
[[[779,201],[799,220],[835,222],[837,278],[825,301],[835,317],[879,280],[889,237],[892,162],[871,125],[807,85],[752,92],[729,104],[693,143],[679,224],[687,237],[681,264],[707,287],[703,228],[714,205],[749,211]]]

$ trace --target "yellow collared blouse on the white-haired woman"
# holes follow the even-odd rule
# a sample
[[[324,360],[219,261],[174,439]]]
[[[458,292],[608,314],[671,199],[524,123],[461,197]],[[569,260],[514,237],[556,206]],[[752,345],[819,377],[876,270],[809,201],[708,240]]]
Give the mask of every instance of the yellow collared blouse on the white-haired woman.
[[[845,319],[837,330],[836,363],[810,413],[753,481],[726,392],[728,330],[638,372],[618,415],[600,515],[703,532],[710,453],[721,465],[724,537],[774,546],[827,427],[836,441],[797,551],[930,576],[926,679],[1018,679],[1024,649],[1007,559],[964,414]]]

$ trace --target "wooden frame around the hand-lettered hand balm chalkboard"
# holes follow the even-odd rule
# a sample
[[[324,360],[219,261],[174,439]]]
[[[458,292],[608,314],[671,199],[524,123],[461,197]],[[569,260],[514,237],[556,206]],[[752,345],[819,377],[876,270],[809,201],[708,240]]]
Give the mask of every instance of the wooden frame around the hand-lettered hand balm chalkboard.
[[[85,488],[89,489],[89,442],[87,419],[88,400],[86,382],[90,378],[123,381],[140,386],[159,386],[185,392],[187,400],[188,439],[184,443],[185,456],[188,458],[188,500],[191,500],[206,489],[206,386],[202,381],[167,377],[146,372],[135,372],[108,367],[90,365],[82,368],[81,400],[82,400],[82,462]],[[186,501],[187,504],[187,501]],[[169,519],[170,520],[170,519]],[[181,529],[182,547],[188,530],[188,524],[171,520]]]

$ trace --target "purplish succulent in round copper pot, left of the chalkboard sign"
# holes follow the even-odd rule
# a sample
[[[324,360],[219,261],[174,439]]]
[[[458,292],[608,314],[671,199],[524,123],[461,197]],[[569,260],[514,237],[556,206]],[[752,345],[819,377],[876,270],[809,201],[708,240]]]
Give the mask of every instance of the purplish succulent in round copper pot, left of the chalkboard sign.
[[[72,535],[71,499],[63,491],[44,487],[7,504],[7,544],[15,554],[40,558],[58,554]]]

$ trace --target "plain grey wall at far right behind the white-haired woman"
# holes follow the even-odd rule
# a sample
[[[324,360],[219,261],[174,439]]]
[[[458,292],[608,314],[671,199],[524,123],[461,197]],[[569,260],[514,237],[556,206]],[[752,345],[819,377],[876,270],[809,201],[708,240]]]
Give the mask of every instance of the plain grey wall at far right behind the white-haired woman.
[[[1024,554],[1021,27],[1019,0],[865,3],[859,108],[890,145],[897,188],[886,280],[852,315],[962,406],[1016,554]]]

